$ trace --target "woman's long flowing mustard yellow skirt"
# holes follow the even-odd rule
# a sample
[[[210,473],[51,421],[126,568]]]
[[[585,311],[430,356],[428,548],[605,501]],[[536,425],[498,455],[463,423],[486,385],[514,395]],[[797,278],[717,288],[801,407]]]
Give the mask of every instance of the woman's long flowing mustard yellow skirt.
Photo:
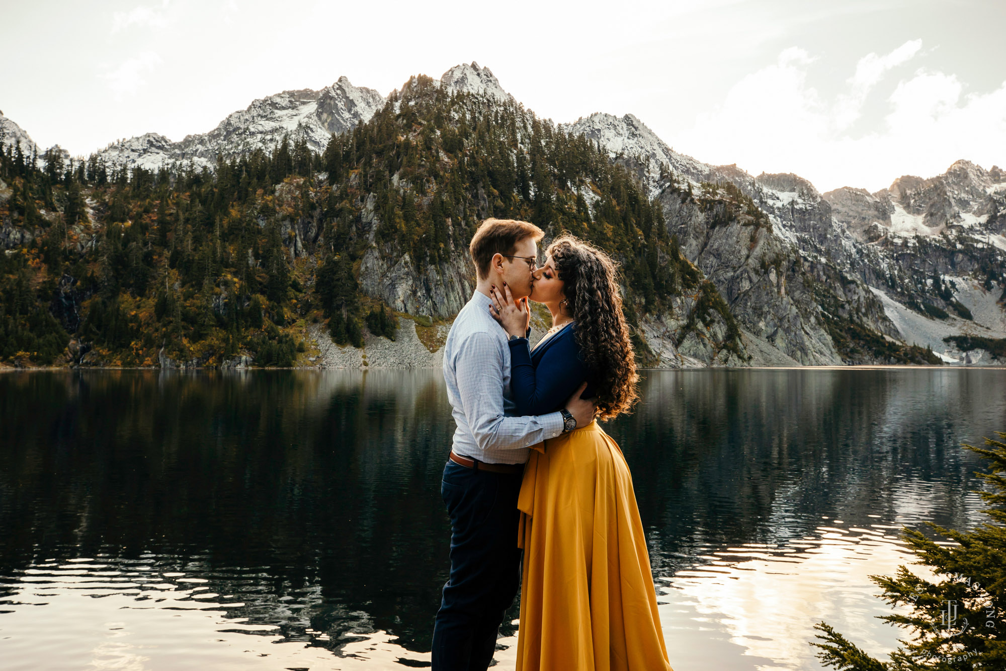
[[[597,422],[534,445],[517,671],[671,671],[632,474]]]

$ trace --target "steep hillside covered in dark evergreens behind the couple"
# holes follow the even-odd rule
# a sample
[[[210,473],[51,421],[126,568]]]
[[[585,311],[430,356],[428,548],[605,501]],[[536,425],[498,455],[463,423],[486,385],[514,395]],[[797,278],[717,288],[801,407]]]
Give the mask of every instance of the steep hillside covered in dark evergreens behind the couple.
[[[306,324],[346,346],[364,328],[393,338],[396,313],[447,317],[467,299],[467,245],[486,217],[600,245],[622,263],[634,325],[671,315],[678,343],[701,331],[743,358],[715,286],[607,152],[424,76],[320,154],[295,137],[213,170],[42,158],[16,145],[0,157],[7,364],[291,366]],[[636,342],[646,361],[642,328]]]

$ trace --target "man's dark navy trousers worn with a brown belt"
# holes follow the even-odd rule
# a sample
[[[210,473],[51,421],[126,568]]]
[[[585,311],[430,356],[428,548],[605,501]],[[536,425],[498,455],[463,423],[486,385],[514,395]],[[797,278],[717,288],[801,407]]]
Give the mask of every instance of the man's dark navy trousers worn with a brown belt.
[[[451,516],[451,577],[434,626],[434,671],[485,671],[520,587],[519,475],[448,460],[441,495]]]

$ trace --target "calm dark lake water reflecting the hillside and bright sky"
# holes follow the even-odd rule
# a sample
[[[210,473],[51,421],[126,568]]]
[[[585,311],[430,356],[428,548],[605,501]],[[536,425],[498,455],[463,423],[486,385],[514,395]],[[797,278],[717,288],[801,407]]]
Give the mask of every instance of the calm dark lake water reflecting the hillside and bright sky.
[[[891,650],[867,575],[901,525],[982,521],[959,443],[1006,430],[1006,370],[645,375],[607,430],[675,670],[820,668],[821,620]],[[439,371],[5,374],[0,422],[5,669],[429,665]]]

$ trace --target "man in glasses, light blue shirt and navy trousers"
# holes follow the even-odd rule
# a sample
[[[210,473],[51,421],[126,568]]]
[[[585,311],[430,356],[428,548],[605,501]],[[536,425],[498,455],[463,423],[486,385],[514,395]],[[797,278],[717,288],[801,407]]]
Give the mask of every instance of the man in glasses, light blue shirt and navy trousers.
[[[520,585],[517,495],[528,446],[594,419],[579,398],[539,417],[513,417],[507,333],[489,312],[490,287],[515,300],[531,293],[541,229],[488,219],[469,246],[478,272],[472,298],[444,346],[444,378],[458,425],[441,494],[451,516],[451,577],[434,627],[434,671],[482,671],[493,659],[503,615]],[[514,337],[516,338],[516,337]]]

